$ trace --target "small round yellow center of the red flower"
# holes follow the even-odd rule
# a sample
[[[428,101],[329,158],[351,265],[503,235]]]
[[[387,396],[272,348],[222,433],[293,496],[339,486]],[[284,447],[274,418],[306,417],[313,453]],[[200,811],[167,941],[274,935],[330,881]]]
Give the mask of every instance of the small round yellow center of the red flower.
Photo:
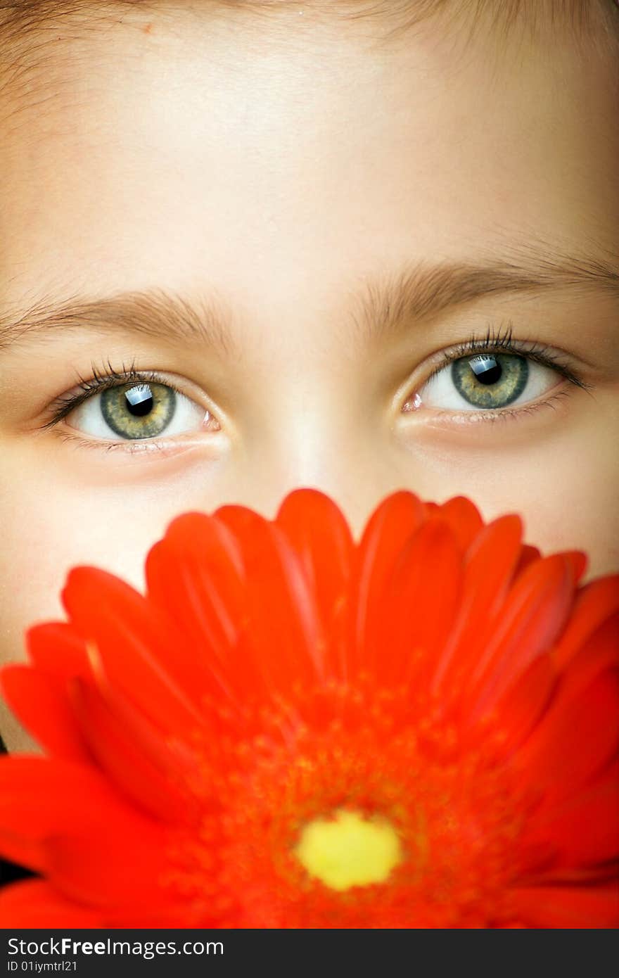
[[[382,883],[402,862],[399,836],[391,822],[358,812],[338,811],[314,819],[301,832],[294,855],[310,876],[332,890]]]

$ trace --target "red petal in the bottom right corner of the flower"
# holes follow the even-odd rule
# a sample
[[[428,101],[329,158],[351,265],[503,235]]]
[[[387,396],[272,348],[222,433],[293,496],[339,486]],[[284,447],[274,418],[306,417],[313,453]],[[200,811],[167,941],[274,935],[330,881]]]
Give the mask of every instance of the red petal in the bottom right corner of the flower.
[[[516,915],[537,929],[609,929],[619,926],[619,885],[530,886],[512,890]]]

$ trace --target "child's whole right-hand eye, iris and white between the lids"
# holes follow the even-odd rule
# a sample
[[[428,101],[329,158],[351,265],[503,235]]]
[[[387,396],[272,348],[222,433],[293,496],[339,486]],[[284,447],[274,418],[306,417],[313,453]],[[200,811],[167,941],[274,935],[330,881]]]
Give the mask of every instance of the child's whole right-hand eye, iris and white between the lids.
[[[500,411],[549,393],[559,374],[525,356],[486,352],[459,357],[438,370],[416,394],[415,407]]]

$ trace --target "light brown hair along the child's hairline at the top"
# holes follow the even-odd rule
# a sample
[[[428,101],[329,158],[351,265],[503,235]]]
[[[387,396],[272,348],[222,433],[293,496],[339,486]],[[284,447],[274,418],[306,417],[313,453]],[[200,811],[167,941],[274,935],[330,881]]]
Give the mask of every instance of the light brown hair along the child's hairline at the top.
[[[570,44],[583,60],[610,55],[619,66],[619,0],[0,0],[0,96],[8,91],[18,106],[31,105],[37,90],[62,84],[64,56],[71,57],[74,42],[118,22],[148,33],[155,17],[173,25],[188,11],[254,17],[280,31],[290,18],[298,28],[299,14],[307,24],[356,22],[377,45],[406,42],[410,31],[437,21],[464,43],[490,31],[499,58],[512,41],[528,38],[543,50]],[[614,87],[619,92],[619,70]]]

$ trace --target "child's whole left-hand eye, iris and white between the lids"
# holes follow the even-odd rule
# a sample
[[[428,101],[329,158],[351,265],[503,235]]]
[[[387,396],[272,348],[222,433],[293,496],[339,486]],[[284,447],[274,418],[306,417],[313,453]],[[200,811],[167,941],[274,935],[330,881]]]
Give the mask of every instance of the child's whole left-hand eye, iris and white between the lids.
[[[138,440],[199,431],[210,414],[168,384],[120,383],[93,393],[65,422],[94,438]]]

